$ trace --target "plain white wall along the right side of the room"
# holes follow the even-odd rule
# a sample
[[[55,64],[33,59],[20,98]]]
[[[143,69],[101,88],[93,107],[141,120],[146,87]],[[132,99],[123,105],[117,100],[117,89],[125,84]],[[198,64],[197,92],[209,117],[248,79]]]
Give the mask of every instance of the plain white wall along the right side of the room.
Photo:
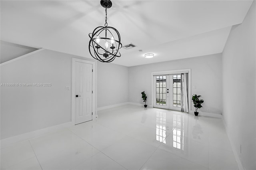
[[[243,23],[232,27],[222,54],[223,117],[234,151],[246,170],[256,169],[255,41],[254,1]]]

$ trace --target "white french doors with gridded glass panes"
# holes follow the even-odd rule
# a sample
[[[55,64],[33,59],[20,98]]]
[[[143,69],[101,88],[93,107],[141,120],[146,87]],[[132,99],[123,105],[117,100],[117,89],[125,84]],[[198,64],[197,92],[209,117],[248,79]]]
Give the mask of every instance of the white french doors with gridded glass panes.
[[[154,107],[180,111],[182,99],[181,74],[154,76]]]

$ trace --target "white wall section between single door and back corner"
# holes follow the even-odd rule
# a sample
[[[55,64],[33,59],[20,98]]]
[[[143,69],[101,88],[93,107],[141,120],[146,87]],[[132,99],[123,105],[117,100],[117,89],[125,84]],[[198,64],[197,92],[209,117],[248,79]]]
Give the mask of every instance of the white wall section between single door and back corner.
[[[98,61],[98,108],[128,102],[128,67]]]

